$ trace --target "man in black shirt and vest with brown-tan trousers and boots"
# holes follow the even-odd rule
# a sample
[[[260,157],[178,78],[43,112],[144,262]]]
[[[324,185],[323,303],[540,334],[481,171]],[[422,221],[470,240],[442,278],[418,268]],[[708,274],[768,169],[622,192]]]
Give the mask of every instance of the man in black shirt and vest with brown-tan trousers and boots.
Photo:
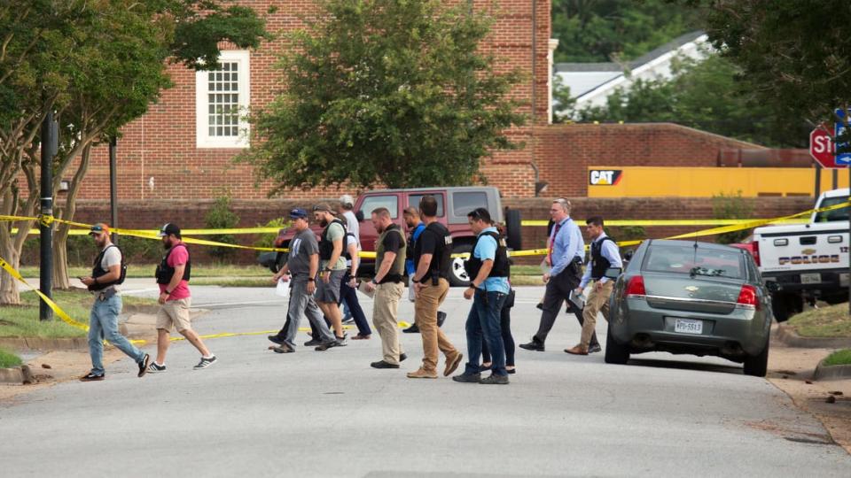
[[[449,342],[437,327],[437,309],[449,293],[449,267],[452,263],[452,236],[449,229],[437,221],[437,200],[424,196],[419,212],[426,229],[419,235],[414,250],[414,290],[417,301],[414,313],[419,335],[423,339],[423,365],[408,378],[437,378],[438,349],[446,355],[444,376],[449,376],[461,363],[464,355]]]

